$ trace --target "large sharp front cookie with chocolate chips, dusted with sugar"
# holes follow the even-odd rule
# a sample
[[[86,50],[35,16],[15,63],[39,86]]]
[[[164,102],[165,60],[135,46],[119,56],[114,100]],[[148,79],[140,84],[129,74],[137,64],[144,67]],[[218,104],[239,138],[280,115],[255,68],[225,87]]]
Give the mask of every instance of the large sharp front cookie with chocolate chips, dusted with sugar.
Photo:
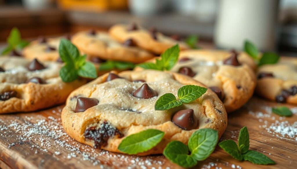
[[[203,84],[190,77],[155,70],[125,71],[105,74],[73,91],[62,110],[62,124],[75,140],[112,152],[122,139],[146,129],[165,132],[153,149],[139,155],[159,154],[168,142],[185,144],[200,128],[218,130],[227,126],[227,114],[216,94],[207,90],[199,99],[170,110],[155,110],[157,99],[185,85]],[[174,118],[179,112],[179,118]],[[183,114],[189,114],[190,116]],[[100,134],[101,133],[101,134]],[[104,134],[107,133],[107,134]]]

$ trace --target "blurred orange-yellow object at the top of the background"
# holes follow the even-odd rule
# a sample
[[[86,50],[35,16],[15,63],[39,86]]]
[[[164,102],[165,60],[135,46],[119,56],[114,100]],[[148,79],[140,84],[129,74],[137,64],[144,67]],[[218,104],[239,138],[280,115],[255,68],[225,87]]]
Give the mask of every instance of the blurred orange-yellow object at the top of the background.
[[[127,0],[57,0],[60,8],[78,11],[127,9]]]

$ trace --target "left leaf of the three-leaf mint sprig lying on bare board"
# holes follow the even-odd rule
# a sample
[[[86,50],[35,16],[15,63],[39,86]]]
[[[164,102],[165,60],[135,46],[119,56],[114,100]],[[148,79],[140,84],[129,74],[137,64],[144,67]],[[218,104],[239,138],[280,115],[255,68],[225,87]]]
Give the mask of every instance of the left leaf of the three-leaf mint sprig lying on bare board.
[[[239,160],[239,161],[242,160],[242,155],[239,152],[239,149],[238,149],[235,141],[233,141],[233,140],[224,140],[224,141],[221,141],[221,142],[219,142],[219,147],[221,147],[222,149],[224,149],[225,152],[227,152],[228,154],[230,154],[236,160]]]

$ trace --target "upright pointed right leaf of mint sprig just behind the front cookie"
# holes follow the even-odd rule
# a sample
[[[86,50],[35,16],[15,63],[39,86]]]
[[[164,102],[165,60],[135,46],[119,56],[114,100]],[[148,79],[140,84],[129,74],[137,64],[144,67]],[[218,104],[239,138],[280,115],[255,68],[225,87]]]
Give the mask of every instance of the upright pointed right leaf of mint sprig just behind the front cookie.
[[[160,62],[156,62],[158,67],[162,67],[162,70],[170,70],[177,62],[179,55],[179,46],[176,44],[171,48],[168,48],[161,54]],[[162,64],[162,65],[161,65]]]

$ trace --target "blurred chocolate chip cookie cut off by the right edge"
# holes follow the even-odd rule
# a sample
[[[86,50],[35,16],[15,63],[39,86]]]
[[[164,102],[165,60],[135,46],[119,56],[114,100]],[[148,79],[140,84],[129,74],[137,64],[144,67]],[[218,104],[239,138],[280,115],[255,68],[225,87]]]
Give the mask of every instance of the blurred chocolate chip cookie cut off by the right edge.
[[[297,59],[281,57],[274,65],[263,65],[257,71],[256,93],[280,103],[297,104]]]

